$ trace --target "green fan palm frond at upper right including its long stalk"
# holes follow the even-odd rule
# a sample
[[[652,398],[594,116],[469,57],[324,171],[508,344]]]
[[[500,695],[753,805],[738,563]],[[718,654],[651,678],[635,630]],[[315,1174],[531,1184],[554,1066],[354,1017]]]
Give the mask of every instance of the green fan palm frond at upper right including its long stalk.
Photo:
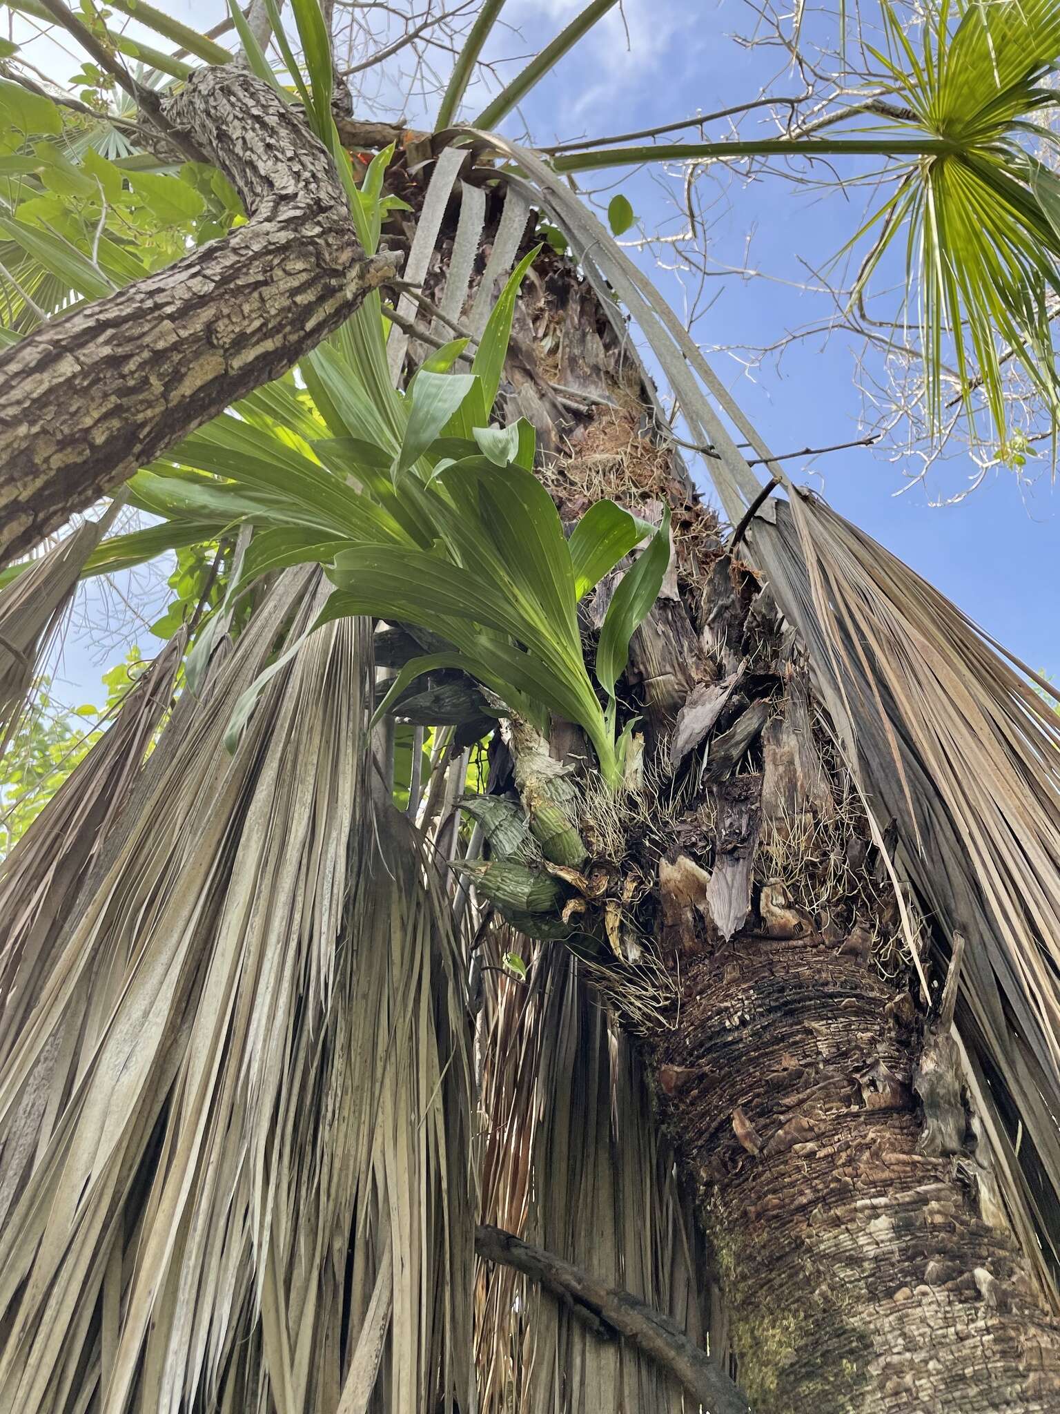
[[[876,233],[854,297],[885,255],[905,245],[906,320],[919,331],[931,423],[943,421],[953,361],[960,399],[972,414],[981,390],[1003,447],[1009,358],[1054,421],[1060,414],[1050,329],[1060,291],[1060,180],[1036,153],[1060,151],[1040,120],[1060,105],[1046,83],[1060,58],[1060,8],[1053,0],[938,0],[919,45],[890,4],[883,18],[888,52],[872,52],[907,117],[828,137],[571,151],[553,165],[567,174],[664,160],[892,160],[893,192],[845,247]]]

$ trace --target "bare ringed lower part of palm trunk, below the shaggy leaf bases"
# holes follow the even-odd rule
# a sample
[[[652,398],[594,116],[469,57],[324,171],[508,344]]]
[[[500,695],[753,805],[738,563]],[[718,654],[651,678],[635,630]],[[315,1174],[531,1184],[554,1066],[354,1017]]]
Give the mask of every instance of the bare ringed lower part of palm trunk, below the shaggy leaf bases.
[[[1060,1340],[971,1165],[921,1152],[916,1028],[820,933],[687,956],[653,1046],[755,1408],[1029,1414]],[[958,1110],[961,1130],[964,1114]]]

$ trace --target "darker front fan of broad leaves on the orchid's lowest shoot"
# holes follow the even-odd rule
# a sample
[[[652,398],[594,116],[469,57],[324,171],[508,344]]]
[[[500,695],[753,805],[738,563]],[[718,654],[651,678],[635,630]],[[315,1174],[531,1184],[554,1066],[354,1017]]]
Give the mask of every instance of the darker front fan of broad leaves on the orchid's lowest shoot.
[[[342,592],[332,598],[325,618],[375,614],[430,629],[457,652],[413,659],[399,673],[390,700],[428,669],[462,667],[546,734],[550,713],[579,723],[596,749],[601,772],[618,786],[622,764],[615,744],[615,679],[602,682],[611,694],[605,713],[585,670],[571,549],[541,484],[513,464],[500,468],[486,457],[465,457],[435,472],[427,486],[410,478],[404,493],[416,499],[437,539],[423,549],[362,544],[341,550],[329,574]],[[595,560],[602,573],[643,536],[640,523],[618,506],[613,510],[625,516],[626,536],[611,540],[612,557]],[[657,592],[669,561],[666,532],[653,546],[661,553],[642,556],[623,584],[636,580],[647,585],[661,559]],[[642,566],[644,573],[639,573]],[[647,607],[643,597],[630,601],[615,595],[602,646],[620,643],[623,633],[628,646],[629,632],[650,608],[654,592]],[[635,622],[636,611],[642,612]],[[608,663],[613,660],[611,649]]]

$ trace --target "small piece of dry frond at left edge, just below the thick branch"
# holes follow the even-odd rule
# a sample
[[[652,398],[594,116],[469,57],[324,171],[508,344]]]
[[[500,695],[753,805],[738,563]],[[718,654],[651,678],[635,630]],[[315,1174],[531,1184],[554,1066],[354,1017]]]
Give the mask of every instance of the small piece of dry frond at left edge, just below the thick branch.
[[[85,520],[0,590],[0,756],[14,735],[37,665],[69,608],[78,575],[120,508]]]

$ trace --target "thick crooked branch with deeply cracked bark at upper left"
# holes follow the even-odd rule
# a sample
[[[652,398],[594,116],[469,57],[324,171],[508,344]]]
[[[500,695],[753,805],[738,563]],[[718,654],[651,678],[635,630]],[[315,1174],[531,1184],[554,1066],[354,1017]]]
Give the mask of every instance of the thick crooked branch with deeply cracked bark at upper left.
[[[328,153],[269,83],[204,68],[167,116],[247,223],[0,359],[0,564],[287,372],[394,274],[365,256]]]

